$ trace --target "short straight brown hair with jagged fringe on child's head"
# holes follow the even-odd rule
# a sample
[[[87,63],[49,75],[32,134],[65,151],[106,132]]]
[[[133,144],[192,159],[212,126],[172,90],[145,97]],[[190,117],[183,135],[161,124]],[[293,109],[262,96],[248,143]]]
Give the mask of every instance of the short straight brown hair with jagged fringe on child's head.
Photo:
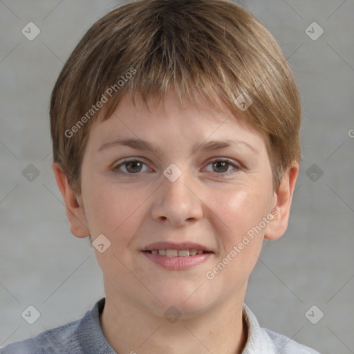
[[[77,194],[92,122],[109,118],[124,93],[133,102],[136,93],[145,103],[150,95],[165,100],[172,85],[181,102],[218,97],[264,134],[274,191],[301,159],[297,84],[277,41],[250,12],[226,0],[138,0],[93,24],[53,88],[53,162]],[[252,100],[245,111],[235,103],[241,93]]]

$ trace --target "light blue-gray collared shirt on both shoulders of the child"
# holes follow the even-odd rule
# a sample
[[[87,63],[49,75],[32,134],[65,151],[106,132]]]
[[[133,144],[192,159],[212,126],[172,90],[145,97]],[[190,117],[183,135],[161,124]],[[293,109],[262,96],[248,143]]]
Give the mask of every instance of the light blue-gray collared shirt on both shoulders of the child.
[[[8,344],[0,349],[0,354],[117,354],[100,326],[104,302],[105,298],[97,301],[82,319]],[[243,305],[243,318],[248,324],[248,341],[243,354],[319,354],[285,335],[261,328],[246,305]],[[136,351],[138,353],[138,349]]]

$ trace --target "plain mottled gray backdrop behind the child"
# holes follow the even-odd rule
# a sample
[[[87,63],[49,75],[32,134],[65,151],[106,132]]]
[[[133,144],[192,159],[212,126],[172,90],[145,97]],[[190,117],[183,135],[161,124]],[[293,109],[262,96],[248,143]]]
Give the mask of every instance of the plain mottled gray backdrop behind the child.
[[[321,353],[354,353],[354,1],[244,3],[295,73],[304,156],[288,231],[265,245],[245,302],[261,326]],[[0,1],[0,346],[79,319],[104,296],[92,246],[71,235],[55,183],[48,104],[77,42],[118,5]],[[33,41],[21,33],[30,21],[41,30]],[[313,21],[324,29],[316,41],[305,32]],[[39,170],[32,182],[29,164]],[[41,314],[32,325],[21,317],[29,305]],[[324,313],[317,324],[305,316],[313,305]]]

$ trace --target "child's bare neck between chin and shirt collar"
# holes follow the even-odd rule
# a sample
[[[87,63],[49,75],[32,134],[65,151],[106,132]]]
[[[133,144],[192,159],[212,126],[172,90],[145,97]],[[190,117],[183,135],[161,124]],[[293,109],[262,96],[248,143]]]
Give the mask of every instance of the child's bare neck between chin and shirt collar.
[[[200,315],[171,323],[131,299],[106,292],[100,324],[118,354],[241,354],[248,337],[242,308],[243,299],[230,299]]]

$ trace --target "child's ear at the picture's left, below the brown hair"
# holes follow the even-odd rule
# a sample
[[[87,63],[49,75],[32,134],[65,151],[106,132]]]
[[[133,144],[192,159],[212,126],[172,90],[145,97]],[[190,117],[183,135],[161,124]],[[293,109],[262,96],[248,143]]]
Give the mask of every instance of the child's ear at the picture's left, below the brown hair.
[[[77,196],[75,192],[73,192],[62,167],[57,162],[53,163],[53,171],[57,185],[64,199],[66,215],[71,225],[71,233],[80,238],[89,236],[90,231],[86,226],[88,223],[81,196]]]

